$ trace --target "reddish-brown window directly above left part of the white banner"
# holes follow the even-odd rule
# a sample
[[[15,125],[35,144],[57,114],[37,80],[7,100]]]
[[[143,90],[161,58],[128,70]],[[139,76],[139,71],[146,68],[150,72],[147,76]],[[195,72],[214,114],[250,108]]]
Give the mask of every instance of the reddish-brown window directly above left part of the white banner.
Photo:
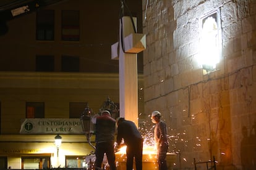
[[[26,118],[45,118],[45,103],[27,102]]]

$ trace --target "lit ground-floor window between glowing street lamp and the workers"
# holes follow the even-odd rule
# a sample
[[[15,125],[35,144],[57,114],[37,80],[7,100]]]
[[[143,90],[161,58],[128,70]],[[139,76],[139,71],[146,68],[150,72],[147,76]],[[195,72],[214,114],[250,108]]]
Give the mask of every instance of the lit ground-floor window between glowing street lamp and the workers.
[[[85,156],[66,156],[66,168],[88,168]]]

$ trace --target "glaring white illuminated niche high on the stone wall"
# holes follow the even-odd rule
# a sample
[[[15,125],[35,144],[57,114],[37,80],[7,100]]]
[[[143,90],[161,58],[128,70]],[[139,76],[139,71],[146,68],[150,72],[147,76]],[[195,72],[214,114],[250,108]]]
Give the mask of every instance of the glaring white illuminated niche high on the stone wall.
[[[200,20],[199,63],[204,73],[216,70],[221,56],[221,26],[219,12],[214,11]]]

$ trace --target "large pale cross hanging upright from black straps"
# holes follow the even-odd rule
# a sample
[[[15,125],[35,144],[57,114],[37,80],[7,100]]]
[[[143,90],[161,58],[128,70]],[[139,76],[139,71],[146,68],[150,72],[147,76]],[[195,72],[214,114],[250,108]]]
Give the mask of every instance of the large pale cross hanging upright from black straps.
[[[137,18],[122,17],[119,24],[119,42],[111,46],[111,59],[119,59],[119,112],[139,126],[137,54],[146,49],[146,36],[135,33]]]

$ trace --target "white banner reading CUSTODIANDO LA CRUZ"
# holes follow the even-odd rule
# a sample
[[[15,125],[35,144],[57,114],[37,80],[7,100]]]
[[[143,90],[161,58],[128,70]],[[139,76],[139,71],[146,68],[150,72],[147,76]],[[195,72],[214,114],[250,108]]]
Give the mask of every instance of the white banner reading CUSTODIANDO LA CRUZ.
[[[80,119],[23,119],[20,134],[83,134]]]

